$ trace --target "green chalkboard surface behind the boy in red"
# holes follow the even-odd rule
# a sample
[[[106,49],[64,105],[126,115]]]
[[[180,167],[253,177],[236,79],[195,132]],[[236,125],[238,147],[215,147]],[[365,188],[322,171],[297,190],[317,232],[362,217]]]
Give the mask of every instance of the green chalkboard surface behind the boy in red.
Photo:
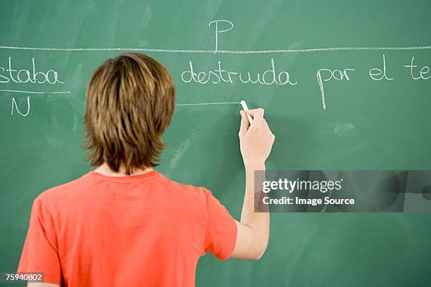
[[[32,200],[90,169],[87,81],[127,50],[170,70],[177,104],[221,103],[175,108],[158,170],[236,218],[242,99],[266,109],[270,170],[431,170],[430,13],[427,0],[3,1],[0,272],[18,265]],[[275,213],[261,260],[206,255],[196,285],[430,286],[430,219]]]

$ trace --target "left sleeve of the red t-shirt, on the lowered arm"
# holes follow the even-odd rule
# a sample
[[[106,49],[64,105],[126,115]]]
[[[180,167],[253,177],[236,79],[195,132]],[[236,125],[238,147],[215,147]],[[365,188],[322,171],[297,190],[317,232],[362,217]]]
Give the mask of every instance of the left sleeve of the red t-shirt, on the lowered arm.
[[[43,272],[45,282],[61,283],[61,265],[58,259],[54,220],[39,198],[33,202],[18,272]]]

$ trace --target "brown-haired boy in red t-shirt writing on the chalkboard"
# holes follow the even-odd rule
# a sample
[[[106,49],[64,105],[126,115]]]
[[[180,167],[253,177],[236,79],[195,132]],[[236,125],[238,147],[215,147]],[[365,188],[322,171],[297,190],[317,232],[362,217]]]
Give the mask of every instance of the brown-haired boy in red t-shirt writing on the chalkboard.
[[[85,139],[96,167],[39,195],[18,272],[43,272],[28,286],[194,286],[205,253],[258,260],[269,214],[254,212],[254,170],[265,170],[275,136],[263,110],[241,112],[246,170],[241,220],[202,187],[178,184],[152,168],[163,149],[175,87],[142,53],[101,65],[87,89]]]

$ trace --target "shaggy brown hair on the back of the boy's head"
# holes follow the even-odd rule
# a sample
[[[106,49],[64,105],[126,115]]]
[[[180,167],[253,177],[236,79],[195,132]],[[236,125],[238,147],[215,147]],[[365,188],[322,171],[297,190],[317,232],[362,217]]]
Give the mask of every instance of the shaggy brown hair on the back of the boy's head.
[[[174,107],[173,79],[157,60],[144,53],[107,60],[87,87],[87,159],[114,172],[123,166],[126,174],[158,165]]]

